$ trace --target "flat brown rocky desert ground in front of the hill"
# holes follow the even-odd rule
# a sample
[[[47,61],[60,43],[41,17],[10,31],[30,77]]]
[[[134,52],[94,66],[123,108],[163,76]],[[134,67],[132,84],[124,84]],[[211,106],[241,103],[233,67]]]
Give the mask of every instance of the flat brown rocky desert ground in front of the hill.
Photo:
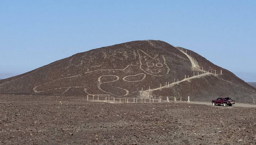
[[[256,108],[0,95],[3,145],[248,145]]]

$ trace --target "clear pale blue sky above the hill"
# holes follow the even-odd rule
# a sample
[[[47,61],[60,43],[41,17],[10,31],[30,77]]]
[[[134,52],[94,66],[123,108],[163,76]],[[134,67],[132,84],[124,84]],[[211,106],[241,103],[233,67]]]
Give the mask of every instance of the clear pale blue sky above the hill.
[[[148,39],[193,50],[256,82],[255,0],[0,0],[0,72]]]

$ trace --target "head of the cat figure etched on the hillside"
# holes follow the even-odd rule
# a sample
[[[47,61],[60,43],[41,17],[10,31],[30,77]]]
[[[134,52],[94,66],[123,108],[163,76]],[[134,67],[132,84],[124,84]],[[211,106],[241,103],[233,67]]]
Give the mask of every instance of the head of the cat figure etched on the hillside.
[[[140,69],[153,76],[163,76],[169,73],[170,69],[165,63],[164,56],[157,54],[149,56],[146,52],[138,50],[140,57]]]

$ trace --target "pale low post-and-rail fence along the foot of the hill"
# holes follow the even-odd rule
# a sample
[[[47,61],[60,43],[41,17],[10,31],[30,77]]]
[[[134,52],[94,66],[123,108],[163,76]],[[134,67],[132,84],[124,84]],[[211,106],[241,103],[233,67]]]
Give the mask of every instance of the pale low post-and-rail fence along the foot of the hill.
[[[108,102],[108,103],[169,103],[169,102],[181,102],[181,97],[174,96],[158,96],[154,95],[149,98],[135,98],[135,97],[126,97],[126,98],[115,98],[110,95],[87,95],[87,101],[99,101],[99,102]]]

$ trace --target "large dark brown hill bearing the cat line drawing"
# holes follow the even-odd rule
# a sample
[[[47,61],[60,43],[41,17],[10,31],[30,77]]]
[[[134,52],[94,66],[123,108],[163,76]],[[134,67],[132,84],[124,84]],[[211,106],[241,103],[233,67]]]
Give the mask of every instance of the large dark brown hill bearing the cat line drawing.
[[[184,80],[185,75],[190,79]],[[179,82],[174,83],[174,79]],[[219,96],[241,103],[255,103],[256,99],[256,89],[232,72],[196,52],[155,40],[77,53],[0,80],[0,93],[5,94],[140,97],[142,88],[142,96],[181,96],[186,100],[190,95],[193,101],[210,101]]]

